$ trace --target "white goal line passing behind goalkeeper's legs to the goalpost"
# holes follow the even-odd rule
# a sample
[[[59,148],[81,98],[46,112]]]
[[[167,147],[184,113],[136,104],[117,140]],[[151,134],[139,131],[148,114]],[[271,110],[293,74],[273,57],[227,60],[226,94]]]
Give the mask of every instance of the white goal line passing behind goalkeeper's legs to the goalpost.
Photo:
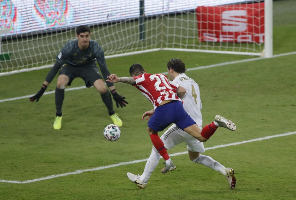
[[[293,55],[293,54],[296,54],[296,52],[281,53],[281,54],[274,55],[273,57],[289,56],[289,55]],[[189,69],[187,69],[187,71],[198,70],[198,69],[207,69],[207,68],[211,68],[211,67],[219,67],[219,66],[223,66],[223,65],[232,65],[232,64],[250,62],[250,61],[255,61],[255,60],[262,60],[262,59],[267,59],[267,58],[259,57],[259,58],[250,58],[250,59],[244,59],[244,60],[236,60],[236,61],[231,61],[231,62],[223,62],[223,63],[213,64],[213,65],[206,65],[206,66],[189,68]],[[168,72],[162,72],[162,74],[167,74],[167,73]],[[84,89],[84,88],[86,88],[86,87],[85,86],[80,86],[80,87],[65,89],[65,91],[80,90],[80,89]],[[52,93],[55,93],[55,91],[45,92],[43,95],[52,94]],[[23,98],[30,98],[33,95],[34,94],[21,96],[21,97],[15,97],[15,98],[2,99],[2,100],[0,100],[0,103],[1,102],[6,102],[6,101],[14,101],[14,100],[23,99]]]

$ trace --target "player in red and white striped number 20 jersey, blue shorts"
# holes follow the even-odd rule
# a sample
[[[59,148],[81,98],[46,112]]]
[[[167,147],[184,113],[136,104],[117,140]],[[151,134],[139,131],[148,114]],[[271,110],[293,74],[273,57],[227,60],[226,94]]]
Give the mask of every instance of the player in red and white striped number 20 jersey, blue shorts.
[[[154,105],[154,109],[145,112],[149,119],[148,134],[152,144],[165,159],[165,167],[161,169],[162,173],[167,173],[176,169],[176,166],[169,158],[165,146],[158,136],[158,131],[163,131],[171,123],[175,123],[182,130],[186,131],[201,142],[207,141],[215,131],[207,131],[207,134],[201,135],[201,130],[194,120],[184,110],[181,99],[186,93],[186,89],[175,83],[172,83],[163,74],[148,74],[140,64],[133,64],[129,70],[132,77],[117,77],[116,74],[110,74],[108,82],[123,82],[136,86],[145,97]],[[177,95],[177,96],[176,96]]]

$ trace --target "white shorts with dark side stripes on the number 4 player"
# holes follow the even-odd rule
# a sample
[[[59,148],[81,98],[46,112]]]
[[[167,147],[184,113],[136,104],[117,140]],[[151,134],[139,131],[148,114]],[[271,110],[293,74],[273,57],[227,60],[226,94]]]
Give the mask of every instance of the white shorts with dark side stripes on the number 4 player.
[[[201,127],[200,127],[201,128]],[[176,124],[173,124],[160,138],[165,144],[166,149],[173,148],[174,146],[185,142],[187,144],[187,149],[192,152],[205,152],[205,147],[203,142],[198,141],[196,138],[192,137],[190,134],[181,130]]]

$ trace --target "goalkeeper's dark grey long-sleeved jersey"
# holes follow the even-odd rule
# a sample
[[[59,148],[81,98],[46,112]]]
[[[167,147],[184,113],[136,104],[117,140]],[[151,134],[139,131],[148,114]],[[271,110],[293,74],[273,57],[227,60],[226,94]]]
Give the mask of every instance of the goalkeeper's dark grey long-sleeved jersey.
[[[104,51],[102,47],[94,40],[90,40],[89,46],[85,50],[81,50],[78,47],[78,39],[69,40],[67,44],[61,49],[61,51],[56,56],[56,63],[48,73],[45,81],[51,82],[52,79],[56,76],[56,73],[59,71],[62,65],[67,64],[69,66],[83,67],[86,65],[95,64],[95,61],[100,66],[102,76],[106,80],[107,76],[110,75],[110,72],[107,69]],[[107,85],[113,86],[113,83],[106,82]]]

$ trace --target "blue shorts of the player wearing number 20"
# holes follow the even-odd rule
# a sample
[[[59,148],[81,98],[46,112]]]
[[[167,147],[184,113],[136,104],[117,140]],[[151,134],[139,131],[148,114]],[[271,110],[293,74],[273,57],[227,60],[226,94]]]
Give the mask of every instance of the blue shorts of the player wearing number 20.
[[[176,124],[182,130],[196,124],[184,110],[181,101],[172,101],[155,109],[155,112],[148,121],[148,127],[154,131],[163,131],[171,123]]]

